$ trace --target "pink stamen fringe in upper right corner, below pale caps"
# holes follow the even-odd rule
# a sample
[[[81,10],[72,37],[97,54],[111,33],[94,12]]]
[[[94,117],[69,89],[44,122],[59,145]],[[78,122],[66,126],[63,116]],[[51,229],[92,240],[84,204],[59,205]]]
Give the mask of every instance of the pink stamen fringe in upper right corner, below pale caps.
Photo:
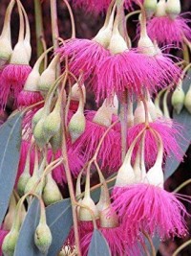
[[[175,19],[168,16],[153,17],[147,23],[148,35],[157,40],[159,46],[173,44],[181,47],[183,36],[191,40],[189,22],[190,20],[183,18],[182,15]]]

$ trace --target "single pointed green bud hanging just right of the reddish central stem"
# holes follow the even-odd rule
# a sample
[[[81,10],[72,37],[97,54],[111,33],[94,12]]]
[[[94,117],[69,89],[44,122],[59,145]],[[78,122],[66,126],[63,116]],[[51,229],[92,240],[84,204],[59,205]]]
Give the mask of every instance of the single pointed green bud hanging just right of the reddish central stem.
[[[72,142],[74,143],[85,131],[86,128],[86,118],[83,113],[83,108],[78,107],[76,113],[71,118],[69,123],[69,131],[71,134]]]

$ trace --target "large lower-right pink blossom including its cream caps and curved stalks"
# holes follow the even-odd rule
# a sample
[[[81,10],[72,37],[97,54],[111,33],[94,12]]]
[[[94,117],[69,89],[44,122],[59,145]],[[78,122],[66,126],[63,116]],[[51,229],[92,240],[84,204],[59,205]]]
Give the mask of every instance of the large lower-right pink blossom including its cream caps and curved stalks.
[[[183,237],[187,234],[184,218],[188,213],[178,199],[183,197],[163,189],[163,144],[159,134],[153,131],[159,142],[159,153],[155,164],[137,183],[133,178],[134,170],[131,167],[131,156],[138,142],[137,137],[127,152],[127,158],[124,161],[126,168],[123,168],[122,172],[120,169],[117,174],[113,191],[113,207],[118,213],[127,236],[131,237],[132,241],[137,240],[141,232],[150,236],[157,234],[162,240],[176,236]],[[141,134],[142,131],[138,136]]]

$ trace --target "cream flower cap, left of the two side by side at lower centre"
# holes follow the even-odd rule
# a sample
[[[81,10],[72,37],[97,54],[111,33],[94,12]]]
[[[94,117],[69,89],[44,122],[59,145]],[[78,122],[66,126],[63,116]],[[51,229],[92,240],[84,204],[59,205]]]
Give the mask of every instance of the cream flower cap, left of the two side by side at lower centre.
[[[96,204],[95,204],[95,202],[92,198],[90,198],[88,196],[85,196],[80,201],[80,204],[90,208],[90,210],[95,215],[95,218],[98,219],[98,211],[97,211],[97,208],[96,208]],[[92,214],[87,208],[80,207],[79,212],[78,212],[78,219],[79,219],[79,221],[92,221]]]

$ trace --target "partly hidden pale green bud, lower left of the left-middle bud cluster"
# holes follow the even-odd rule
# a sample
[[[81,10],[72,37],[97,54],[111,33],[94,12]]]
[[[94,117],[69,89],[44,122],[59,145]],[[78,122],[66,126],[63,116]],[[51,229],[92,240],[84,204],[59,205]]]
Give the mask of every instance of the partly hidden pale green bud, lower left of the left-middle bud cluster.
[[[33,130],[33,137],[40,149],[42,149],[47,143],[47,139],[44,137],[44,122],[45,118],[42,118]]]

